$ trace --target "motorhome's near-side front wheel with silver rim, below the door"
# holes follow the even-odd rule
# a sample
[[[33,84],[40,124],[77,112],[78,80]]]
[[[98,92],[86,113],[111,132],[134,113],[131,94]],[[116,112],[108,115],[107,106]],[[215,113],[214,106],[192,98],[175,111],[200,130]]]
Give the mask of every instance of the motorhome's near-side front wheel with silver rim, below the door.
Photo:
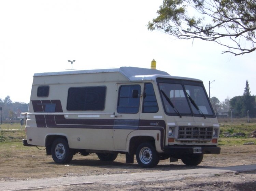
[[[136,150],[136,160],[143,168],[152,168],[157,166],[159,159],[160,157],[155,146],[150,142],[140,144]]]

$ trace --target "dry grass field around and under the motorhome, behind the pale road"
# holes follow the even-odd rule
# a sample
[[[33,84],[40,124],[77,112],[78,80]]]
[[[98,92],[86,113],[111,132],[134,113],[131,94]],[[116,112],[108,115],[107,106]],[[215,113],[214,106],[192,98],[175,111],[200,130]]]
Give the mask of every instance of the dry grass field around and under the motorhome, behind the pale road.
[[[95,154],[91,154],[89,156],[81,156],[79,154],[76,154],[69,164],[56,164],[53,162],[51,156],[46,156],[45,151],[42,151],[44,147],[37,148],[23,146],[22,139],[26,138],[24,127],[22,128],[22,130],[20,130],[20,125],[18,124],[14,124],[13,127],[18,130],[11,131],[9,126],[9,131],[7,131],[4,130],[6,129],[6,125],[1,125],[2,130],[0,132],[0,184],[1,181],[17,181],[63,176],[68,177],[122,174],[124,172],[153,172],[156,170],[171,171],[188,168],[180,160],[178,162],[170,163],[167,159],[161,160],[156,168],[142,169],[138,166],[136,162],[134,164],[125,164],[125,155],[122,154],[119,154],[114,162],[100,161]],[[247,136],[248,134],[250,134],[251,131],[253,131],[253,129],[256,129],[256,124],[221,124],[221,129],[222,132],[245,132]],[[248,138],[246,136],[232,138],[221,137],[219,140],[219,146],[222,149],[221,154],[204,155],[204,159],[199,165],[199,168],[200,166],[229,167],[256,164],[256,139]],[[254,144],[243,145],[247,142],[251,142]],[[252,174],[250,174],[250,177],[252,177],[252,180],[250,180],[250,178],[247,178],[247,180],[249,181],[248,183],[250,184],[252,184],[253,179],[256,178],[255,171],[251,173]],[[223,181],[225,181],[225,178]],[[193,183],[191,182],[191,184]],[[78,188],[76,189],[79,190]]]

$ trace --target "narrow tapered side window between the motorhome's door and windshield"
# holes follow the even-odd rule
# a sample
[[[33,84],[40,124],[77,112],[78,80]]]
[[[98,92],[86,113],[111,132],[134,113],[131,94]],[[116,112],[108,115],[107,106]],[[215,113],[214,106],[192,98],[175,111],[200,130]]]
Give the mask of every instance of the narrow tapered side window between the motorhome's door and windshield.
[[[156,101],[156,95],[151,83],[145,83],[144,95],[143,95],[143,113],[156,113],[158,111],[158,105]]]

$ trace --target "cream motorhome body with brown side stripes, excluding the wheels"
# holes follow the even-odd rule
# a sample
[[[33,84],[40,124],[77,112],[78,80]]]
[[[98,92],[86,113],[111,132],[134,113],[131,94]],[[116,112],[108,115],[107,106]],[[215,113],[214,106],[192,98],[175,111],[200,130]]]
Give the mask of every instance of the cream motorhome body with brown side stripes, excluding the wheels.
[[[208,113],[206,106],[199,105],[207,117],[199,111],[196,113],[191,103],[186,103],[190,104],[191,112],[184,111],[181,115],[180,108],[177,111],[173,108],[175,112],[169,113],[171,111],[168,107],[172,110],[168,103],[170,100],[166,100],[161,92],[170,83],[174,86],[181,84],[180,86],[187,86],[188,89],[195,86],[194,84],[201,84],[201,89],[205,92],[201,80],[171,76],[164,71],[145,68],[120,67],[35,73],[26,121],[27,144],[46,146],[49,149],[54,139],[64,137],[70,149],[75,151],[129,154],[134,154],[137,144],[143,141],[153,142],[159,154],[172,153],[174,145],[216,146],[219,126],[212,107],[208,106],[207,109],[212,110]],[[148,87],[153,88],[153,94],[145,93]],[[80,89],[82,91],[86,88],[93,89],[92,93],[80,95]],[[130,95],[127,94],[127,98],[125,94],[121,95],[121,88],[124,92],[129,90]],[[137,90],[136,103],[139,105],[121,105],[122,108],[119,104],[121,100],[127,105],[133,99],[131,90],[132,93]],[[73,98],[73,94],[76,97]],[[174,98],[174,94],[179,96],[175,95]],[[179,104],[181,99],[189,101],[189,94],[185,94],[178,89],[168,91],[166,96],[169,99],[173,97],[172,101]],[[87,105],[78,104],[77,99],[85,99],[85,96],[91,102],[87,101]],[[151,101],[144,103],[146,98],[151,98]],[[208,97],[204,101],[209,102]],[[157,109],[143,111],[147,104]],[[213,132],[217,135],[213,135]],[[187,148],[184,147],[185,149]],[[210,149],[208,152],[210,153]]]

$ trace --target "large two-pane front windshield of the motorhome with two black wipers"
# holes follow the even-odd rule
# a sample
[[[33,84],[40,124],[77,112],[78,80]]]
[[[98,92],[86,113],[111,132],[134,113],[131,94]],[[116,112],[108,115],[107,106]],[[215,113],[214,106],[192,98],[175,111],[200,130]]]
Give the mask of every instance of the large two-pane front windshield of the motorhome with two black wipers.
[[[202,82],[158,80],[163,107],[168,115],[213,117]]]

